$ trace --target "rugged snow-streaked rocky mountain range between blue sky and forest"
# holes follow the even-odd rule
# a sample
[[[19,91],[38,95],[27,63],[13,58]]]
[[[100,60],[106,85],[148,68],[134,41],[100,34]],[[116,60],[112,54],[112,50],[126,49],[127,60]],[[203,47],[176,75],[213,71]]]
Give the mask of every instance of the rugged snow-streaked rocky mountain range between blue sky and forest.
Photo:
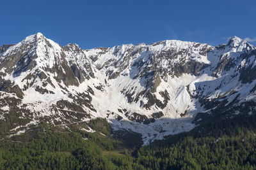
[[[254,112],[255,56],[237,37],[215,47],[166,40],[82,50],[38,33],[0,47],[1,119],[16,111],[15,129],[106,117],[148,144],[193,129],[199,115]]]

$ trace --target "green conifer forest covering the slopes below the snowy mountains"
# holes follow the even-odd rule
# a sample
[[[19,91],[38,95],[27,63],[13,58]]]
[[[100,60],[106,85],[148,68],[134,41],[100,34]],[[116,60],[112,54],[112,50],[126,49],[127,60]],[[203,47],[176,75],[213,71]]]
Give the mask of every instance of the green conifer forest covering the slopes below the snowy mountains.
[[[0,141],[0,169],[256,169],[255,122],[255,114],[212,115],[148,146],[140,134],[111,131],[106,119],[90,122],[96,132],[42,123]]]

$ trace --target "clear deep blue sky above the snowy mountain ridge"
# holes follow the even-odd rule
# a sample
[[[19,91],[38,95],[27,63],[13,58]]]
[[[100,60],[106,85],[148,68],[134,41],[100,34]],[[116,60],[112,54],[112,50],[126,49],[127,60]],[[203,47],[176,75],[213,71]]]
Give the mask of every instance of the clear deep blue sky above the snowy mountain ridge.
[[[0,46],[42,32],[81,48],[180,39],[219,45],[232,36],[256,44],[256,1],[3,0]]]

